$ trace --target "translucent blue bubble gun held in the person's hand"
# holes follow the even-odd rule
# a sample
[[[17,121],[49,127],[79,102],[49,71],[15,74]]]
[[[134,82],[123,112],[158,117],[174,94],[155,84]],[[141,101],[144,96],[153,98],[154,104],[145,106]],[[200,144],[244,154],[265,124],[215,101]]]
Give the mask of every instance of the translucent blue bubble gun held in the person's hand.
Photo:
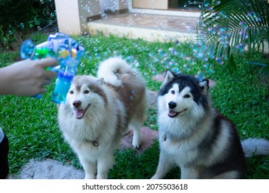
[[[34,45],[30,39],[21,45],[21,59],[43,59],[54,57],[59,65],[46,70],[58,72],[51,100],[54,103],[65,103],[66,94],[70,88],[72,79],[76,74],[77,65],[80,62],[84,48],[66,34],[57,32],[50,34],[48,40]],[[41,98],[41,94],[35,96]]]

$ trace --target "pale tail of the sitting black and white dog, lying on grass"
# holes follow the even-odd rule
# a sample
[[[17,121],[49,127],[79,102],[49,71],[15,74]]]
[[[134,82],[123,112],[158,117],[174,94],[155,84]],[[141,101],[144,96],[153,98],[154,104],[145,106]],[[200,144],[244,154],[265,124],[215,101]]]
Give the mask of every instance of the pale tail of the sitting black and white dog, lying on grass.
[[[266,139],[249,138],[241,141],[246,157],[269,155],[269,141]]]

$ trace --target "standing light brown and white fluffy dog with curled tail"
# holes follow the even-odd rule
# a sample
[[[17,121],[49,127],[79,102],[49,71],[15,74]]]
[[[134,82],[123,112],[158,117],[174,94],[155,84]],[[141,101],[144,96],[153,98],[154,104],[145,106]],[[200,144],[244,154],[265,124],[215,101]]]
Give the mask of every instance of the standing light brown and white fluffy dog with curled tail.
[[[114,57],[99,66],[98,78],[74,77],[66,103],[60,105],[61,132],[86,172],[86,179],[106,179],[117,148],[132,126],[132,145],[140,145],[146,116],[146,85],[126,61]],[[95,172],[97,170],[97,176]]]

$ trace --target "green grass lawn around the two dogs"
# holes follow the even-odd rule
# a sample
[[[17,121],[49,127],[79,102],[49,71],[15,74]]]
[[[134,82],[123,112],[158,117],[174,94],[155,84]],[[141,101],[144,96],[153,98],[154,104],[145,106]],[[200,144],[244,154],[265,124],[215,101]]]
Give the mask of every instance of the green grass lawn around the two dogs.
[[[46,35],[32,37],[34,43],[46,41]],[[121,55],[141,71],[147,81],[148,90],[159,89],[161,83],[153,81],[157,73],[171,68],[177,72],[197,74],[201,72],[208,79],[216,81],[211,89],[215,107],[237,124],[241,139],[263,137],[269,139],[269,83],[266,77],[259,76],[261,67],[250,65],[247,61],[268,63],[259,54],[247,54],[236,58],[239,69],[231,74],[225,63],[212,62],[209,66],[192,56],[188,43],[149,43],[143,40],[130,40],[117,37],[74,37],[85,48],[85,57],[77,74],[97,72],[100,61]],[[175,53],[175,50],[177,53]],[[3,52],[0,67],[19,60],[19,52]],[[214,69],[214,72],[210,70]],[[268,78],[268,77],[267,77]],[[81,168],[57,125],[57,105],[50,101],[54,82],[42,99],[22,96],[0,96],[0,125],[10,140],[10,172],[16,174],[30,159],[50,158]],[[148,110],[145,125],[157,130],[156,110]],[[135,150],[117,150],[117,165],[109,172],[110,179],[149,179],[157,168],[159,144],[157,141],[142,154]],[[175,167],[167,176],[180,177]],[[269,156],[255,156],[248,159],[247,179],[269,179]]]

